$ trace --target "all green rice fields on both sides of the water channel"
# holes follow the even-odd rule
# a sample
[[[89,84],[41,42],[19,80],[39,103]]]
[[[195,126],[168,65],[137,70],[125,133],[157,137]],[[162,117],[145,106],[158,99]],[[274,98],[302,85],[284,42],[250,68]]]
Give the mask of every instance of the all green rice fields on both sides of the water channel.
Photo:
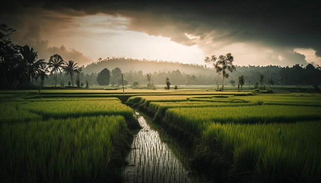
[[[37,90],[0,91],[0,181],[115,181],[115,159],[128,152],[129,129],[137,126],[122,101],[190,144],[194,161],[215,162],[220,154],[230,167],[221,176],[321,180],[321,94],[202,87],[125,93],[124,101],[123,90],[43,90],[41,99]]]

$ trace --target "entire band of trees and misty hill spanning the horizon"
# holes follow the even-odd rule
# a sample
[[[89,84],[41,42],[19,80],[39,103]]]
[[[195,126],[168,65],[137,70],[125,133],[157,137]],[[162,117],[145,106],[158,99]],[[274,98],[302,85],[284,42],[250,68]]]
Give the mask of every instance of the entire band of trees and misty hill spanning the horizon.
[[[21,46],[13,44],[10,40],[11,34],[15,30],[8,28],[6,25],[0,25],[0,88],[14,89],[26,88],[29,86],[65,86],[73,85],[76,83],[78,87],[83,86],[86,82],[89,85],[119,85],[121,83],[122,71],[119,67],[106,68],[109,71],[108,82],[98,82],[98,73],[85,74],[82,70],[86,67],[78,67],[74,61],[70,60],[65,62],[58,54],[52,55],[48,62],[44,59],[37,58],[37,52],[30,48],[28,45]],[[112,58],[111,60],[116,59]],[[124,59],[127,62],[135,61],[137,59]],[[210,71],[206,66],[202,65],[185,65],[189,69],[193,67],[199,71],[204,71],[202,74],[186,74],[179,71],[177,68],[184,64],[175,62],[162,62],[172,64],[172,71],[158,71],[152,73],[144,73],[142,70],[130,70],[123,73],[125,85],[166,85],[166,78],[169,78],[172,85],[223,85],[238,83],[238,78],[243,76],[244,85],[262,88],[263,85],[320,85],[321,84],[321,67],[312,64],[306,66],[295,64],[292,67],[286,66],[237,66],[231,65],[231,68],[224,67],[218,64],[222,59],[233,60],[231,55],[219,56],[218,58],[212,57],[214,68],[216,72]],[[211,60],[208,58],[208,62]],[[102,61],[102,60],[101,60]],[[108,60],[107,60],[108,61]],[[121,60],[122,61],[122,60]],[[151,65],[158,62],[149,62],[142,60],[145,64]],[[127,63],[126,62],[126,63]],[[101,63],[101,62],[98,62]],[[98,65],[92,63],[91,65]],[[120,62],[118,61],[118,64]],[[216,65],[215,65],[216,64]],[[103,67],[104,68],[104,67]],[[111,72],[110,72],[111,71]],[[230,71],[226,73],[226,71]],[[233,71],[233,72],[231,72]],[[151,81],[146,81],[147,74],[150,76]],[[76,75],[76,77],[74,77]],[[107,77],[107,76],[106,76]],[[105,77],[103,77],[105,78]],[[242,82],[243,83],[243,82]],[[256,87],[255,87],[256,86]],[[223,87],[223,86],[222,86]]]

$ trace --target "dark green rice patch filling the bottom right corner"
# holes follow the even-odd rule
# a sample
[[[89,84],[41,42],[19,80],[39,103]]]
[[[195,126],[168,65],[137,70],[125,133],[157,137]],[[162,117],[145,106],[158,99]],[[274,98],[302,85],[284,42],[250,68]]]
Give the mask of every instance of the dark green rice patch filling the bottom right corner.
[[[232,153],[238,172],[256,170],[267,182],[320,182],[320,129],[321,121],[212,123],[203,138],[208,144],[222,145],[225,153]]]

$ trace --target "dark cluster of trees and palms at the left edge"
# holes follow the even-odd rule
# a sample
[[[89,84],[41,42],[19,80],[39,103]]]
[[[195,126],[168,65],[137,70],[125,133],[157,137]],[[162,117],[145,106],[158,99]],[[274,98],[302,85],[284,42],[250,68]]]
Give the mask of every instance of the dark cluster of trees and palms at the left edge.
[[[57,74],[64,71],[69,75],[73,85],[73,75],[81,72],[73,60],[65,62],[62,56],[54,54],[49,61],[38,59],[37,52],[29,45],[17,45],[11,42],[11,35],[15,32],[7,25],[0,25],[0,75],[1,88],[29,87],[31,85],[43,86],[48,73],[55,78],[57,85]],[[38,80],[41,80],[38,83]],[[78,78],[77,78],[78,81]],[[77,85],[79,83],[77,82]]]

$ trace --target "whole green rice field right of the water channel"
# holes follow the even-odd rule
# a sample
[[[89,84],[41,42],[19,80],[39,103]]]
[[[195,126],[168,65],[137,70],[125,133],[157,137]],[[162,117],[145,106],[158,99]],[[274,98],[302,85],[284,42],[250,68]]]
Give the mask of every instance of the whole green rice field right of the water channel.
[[[223,154],[232,164],[231,176],[248,175],[249,180],[256,177],[255,181],[267,182],[321,180],[320,94],[195,95],[179,99],[140,96],[132,102],[177,138],[193,134],[192,139],[182,141],[190,144],[195,159],[199,154],[207,154],[207,159]]]

